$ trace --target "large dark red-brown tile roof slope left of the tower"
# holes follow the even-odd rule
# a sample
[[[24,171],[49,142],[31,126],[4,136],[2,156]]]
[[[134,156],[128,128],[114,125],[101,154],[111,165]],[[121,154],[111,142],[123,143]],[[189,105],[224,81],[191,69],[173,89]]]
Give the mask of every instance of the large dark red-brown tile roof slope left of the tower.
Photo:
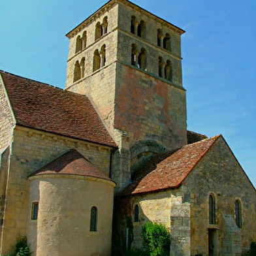
[[[0,74],[18,125],[116,147],[85,95],[8,72]]]

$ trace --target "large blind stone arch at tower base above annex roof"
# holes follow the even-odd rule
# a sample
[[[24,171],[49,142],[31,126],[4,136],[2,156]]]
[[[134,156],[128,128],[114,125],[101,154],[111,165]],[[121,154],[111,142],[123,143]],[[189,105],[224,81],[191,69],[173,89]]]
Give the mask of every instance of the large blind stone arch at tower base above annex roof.
[[[165,146],[155,140],[140,140],[130,148],[131,153],[131,174],[148,162],[154,155],[167,152]]]

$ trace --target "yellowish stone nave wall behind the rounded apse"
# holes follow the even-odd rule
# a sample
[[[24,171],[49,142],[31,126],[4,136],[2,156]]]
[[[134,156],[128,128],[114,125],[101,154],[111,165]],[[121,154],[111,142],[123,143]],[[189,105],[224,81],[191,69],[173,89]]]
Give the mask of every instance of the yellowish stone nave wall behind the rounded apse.
[[[72,148],[78,150],[109,175],[112,148],[34,129],[16,127],[10,158],[1,253],[7,254],[15,244],[18,234],[23,235],[27,232],[29,214],[27,212],[29,194],[27,176]]]

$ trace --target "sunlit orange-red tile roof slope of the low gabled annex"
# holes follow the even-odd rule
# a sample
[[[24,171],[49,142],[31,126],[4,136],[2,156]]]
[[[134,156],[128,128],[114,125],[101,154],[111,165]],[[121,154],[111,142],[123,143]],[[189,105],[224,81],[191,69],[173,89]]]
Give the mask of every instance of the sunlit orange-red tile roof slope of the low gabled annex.
[[[221,135],[187,144],[174,153],[157,155],[156,160],[152,159],[144,170],[135,174],[133,184],[128,185],[121,195],[135,195],[178,187],[219,136]]]

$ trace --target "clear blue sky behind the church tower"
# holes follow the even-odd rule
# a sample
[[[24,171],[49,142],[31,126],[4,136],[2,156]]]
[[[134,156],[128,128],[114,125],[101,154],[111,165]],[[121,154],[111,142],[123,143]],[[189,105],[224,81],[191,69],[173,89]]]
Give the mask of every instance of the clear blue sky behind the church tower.
[[[65,34],[102,0],[0,3],[0,69],[65,86]],[[221,133],[256,186],[256,1],[135,0],[185,29],[182,36],[188,129]]]

